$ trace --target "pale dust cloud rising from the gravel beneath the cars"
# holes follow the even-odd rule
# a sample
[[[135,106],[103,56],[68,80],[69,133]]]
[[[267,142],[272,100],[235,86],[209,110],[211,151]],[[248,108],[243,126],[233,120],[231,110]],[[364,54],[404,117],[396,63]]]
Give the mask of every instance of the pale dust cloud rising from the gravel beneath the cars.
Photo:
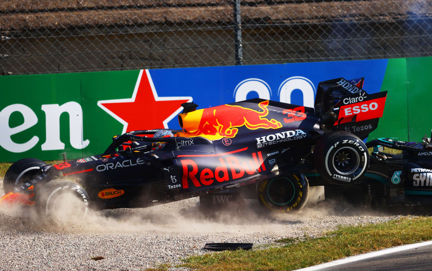
[[[3,190],[3,189],[1,189]],[[241,208],[202,210],[198,198],[190,198],[147,208],[87,211],[84,220],[74,210],[82,204],[73,197],[62,198],[54,222],[42,217],[37,207],[0,207],[0,228],[64,233],[280,233],[299,231],[311,219],[329,216],[387,216],[388,210],[355,207],[343,200],[308,204],[297,212],[270,212],[257,200],[245,200]]]

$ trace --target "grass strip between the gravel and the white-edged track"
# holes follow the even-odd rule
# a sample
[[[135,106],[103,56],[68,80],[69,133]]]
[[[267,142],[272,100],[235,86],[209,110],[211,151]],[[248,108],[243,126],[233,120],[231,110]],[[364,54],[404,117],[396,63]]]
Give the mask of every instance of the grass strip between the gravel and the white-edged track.
[[[191,256],[180,267],[200,271],[295,270],[346,256],[432,239],[432,218],[409,217],[386,223],[343,226],[319,238],[281,239],[283,247]]]

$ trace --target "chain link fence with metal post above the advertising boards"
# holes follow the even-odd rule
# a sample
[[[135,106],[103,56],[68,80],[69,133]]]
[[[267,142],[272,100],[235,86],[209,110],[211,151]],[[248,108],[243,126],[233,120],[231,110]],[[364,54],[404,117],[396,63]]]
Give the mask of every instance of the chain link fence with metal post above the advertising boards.
[[[432,0],[0,0],[0,72],[432,55]]]

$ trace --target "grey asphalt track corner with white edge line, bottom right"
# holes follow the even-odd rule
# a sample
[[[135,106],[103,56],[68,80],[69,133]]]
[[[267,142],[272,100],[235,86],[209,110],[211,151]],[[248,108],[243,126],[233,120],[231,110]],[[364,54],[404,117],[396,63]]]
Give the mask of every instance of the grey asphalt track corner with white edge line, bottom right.
[[[302,271],[425,271],[432,270],[432,241],[403,245],[299,269]]]

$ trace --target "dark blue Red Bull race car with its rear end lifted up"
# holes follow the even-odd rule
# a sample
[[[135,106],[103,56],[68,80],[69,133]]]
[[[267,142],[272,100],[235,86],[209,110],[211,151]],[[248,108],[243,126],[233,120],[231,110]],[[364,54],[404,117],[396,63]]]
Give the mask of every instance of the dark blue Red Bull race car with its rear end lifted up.
[[[82,218],[89,207],[146,207],[254,185],[271,209],[301,208],[309,190],[303,173],[316,169],[326,183],[352,185],[368,169],[362,139],[377,127],[387,92],[368,94],[362,84],[321,82],[314,108],[263,99],[198,110],[184,103],[181,130],[130,131],[103,154],[56,165],[17,161],[0,202],[35,204],[55,220],[64,195],[80,199]]]

